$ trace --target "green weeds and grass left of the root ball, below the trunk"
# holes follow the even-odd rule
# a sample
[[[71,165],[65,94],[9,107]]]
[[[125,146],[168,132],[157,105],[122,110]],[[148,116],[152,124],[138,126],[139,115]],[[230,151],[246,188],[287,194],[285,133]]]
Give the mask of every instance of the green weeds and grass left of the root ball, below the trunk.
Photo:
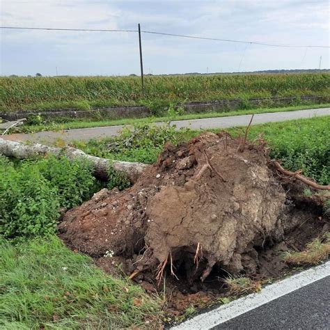
[[[118,178],[112,173],[109,182],[97,182],[89,164],[65,157],[24,162],[0,157],[1,329],[158,324],[157,297],[127,278],[104,274],[55,236],[61,208],[81,204],[102,187],[127,184]]]

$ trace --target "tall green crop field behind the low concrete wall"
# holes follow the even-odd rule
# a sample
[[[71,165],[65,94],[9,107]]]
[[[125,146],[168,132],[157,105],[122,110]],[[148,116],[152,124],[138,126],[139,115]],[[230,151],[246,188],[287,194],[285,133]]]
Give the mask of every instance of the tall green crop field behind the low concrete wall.
[[[143,104],[157,115],[171,102],[329,96],[330,74],[155,76],[145,84],[142,96],[139,77],[2,77],[0,111]]]

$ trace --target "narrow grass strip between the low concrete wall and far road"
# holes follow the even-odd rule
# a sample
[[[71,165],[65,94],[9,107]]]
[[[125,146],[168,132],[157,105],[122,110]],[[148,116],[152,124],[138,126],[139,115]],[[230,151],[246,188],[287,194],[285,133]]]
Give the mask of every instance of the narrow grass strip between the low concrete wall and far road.
[[[227,116],[240,116],[249,115],[252,113],[274,113],[274,112],[285,112],[285,111],[297,111],[304,109],[317,109],[317,108],[328,108],[330,103],[327,104],[310,104],[310,105],[297,105],[292,107],[281,107],[281,108],[258,108],[249,110],[239,111],[223,111],[223,112],[209,112],[209,113],[190,113],[180,116],[172,117],[173,120],[189,120],[189,119],[202,119],[202,118],[219,118]],[[104,126],[116,126],[116,125],[134,125],[136,123],[150,123],[153,121],[166,122],[169,116],[163,117],[149,117],[149,118],[124,118],[118,120],[86,120],[86,119],[64,119],[58,118],[57,120],[43,121],[42,118],[36,118],[35,122],[39,122],[38,125],[25,124],[16,129],[12,129],[11,132],[41,132],[41,131],[59,131],[62,129],[76,129],[76,128],[90,128],[90,127],[104,127]]]

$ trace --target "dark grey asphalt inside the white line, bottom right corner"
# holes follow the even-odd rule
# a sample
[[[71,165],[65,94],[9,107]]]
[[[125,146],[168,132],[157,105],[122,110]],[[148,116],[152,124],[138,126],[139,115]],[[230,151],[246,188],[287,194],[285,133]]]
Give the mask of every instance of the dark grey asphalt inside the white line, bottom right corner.
[[[330,276],[212,329],[330,329]]]

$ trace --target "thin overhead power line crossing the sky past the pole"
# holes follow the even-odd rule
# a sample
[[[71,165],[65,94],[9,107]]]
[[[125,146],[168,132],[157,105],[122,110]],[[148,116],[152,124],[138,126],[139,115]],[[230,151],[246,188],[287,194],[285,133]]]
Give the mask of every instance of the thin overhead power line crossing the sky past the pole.
[[[22,27],[22,26],[0,26],[0,29],[15,29],[15,30],[45,30],[45,31],[88,31],[88,32],[138,32],[137,30],[118,30],[118,29],[61,29],[61,28],[35,28],[35,27]],[[143,31],[142,33],[156,34],[159,36],[171,36],[178,38],[190,38],[190,39],[200,39],[200,40],[212,40],[212,41],[222,41],[222,42],[239,42],[244,44],[253,44],[269,47],[290,47],[290,48],[330,48],[330,46],[320,46],[320,45],[279,45],[279,44],[269,44],[266,42],[258,41],[247,41],[247,40],[233,40],[233,39],[219,39],[219,38],[208,38],[208,37],[198,37],[198,36],[187,36],[184,34],[174,34],[174,33],[164,33],[156,31]]]

